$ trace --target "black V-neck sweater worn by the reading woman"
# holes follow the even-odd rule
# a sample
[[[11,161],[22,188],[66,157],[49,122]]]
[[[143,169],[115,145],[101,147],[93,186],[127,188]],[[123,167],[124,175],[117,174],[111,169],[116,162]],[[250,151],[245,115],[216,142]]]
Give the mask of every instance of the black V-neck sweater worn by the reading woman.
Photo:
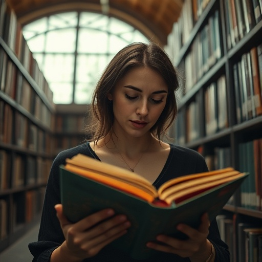
[[[38,242],[29,244],[30,252],[34,256],[33,262],[50,261],[50,256],[53,250],[64,242],[64,236],[56,216],[56,211],[54,209],[56,204],[61,203],[59,190],[59,165],[65,163],[65,158],[72,158],[79,153],[99,159],[90,147],[90,144],[85,143],[83,145],[60,152],[54,160],[47,184],[45,201],[43,203]],[[170,145],[168,159],[159,177],[154,182],[154,186],[159,188],[164,182],[174,177],[204,172],[207,170],[208,168],[206,166],[205,160],[200,154],[198,154],[198,152],[188,148]],[[215,262],[229,262],[228,247],[220,238],[220,233],[215,219],[211,222],[208,239],[215,248]],[[135,262],[141,260],[130,258],[125,254],[116,251],[112,247],[105,247],[95,257],[84,259],[83,261]],[[181,258],[180,256],[174,254],[158,252],[158,254],[154,257],[142,261],[186,262],[190,261],[190,259]]]

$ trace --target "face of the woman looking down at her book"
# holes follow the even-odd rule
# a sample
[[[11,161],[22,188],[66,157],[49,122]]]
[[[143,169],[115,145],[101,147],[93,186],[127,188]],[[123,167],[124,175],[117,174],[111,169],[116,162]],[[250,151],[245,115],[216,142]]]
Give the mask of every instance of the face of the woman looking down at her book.
[[[113,100],[115,132],[133,137],[150,133],[165,107],[167,93],[167,84],[156,71],[146,67],[130,70],[108,95]]]

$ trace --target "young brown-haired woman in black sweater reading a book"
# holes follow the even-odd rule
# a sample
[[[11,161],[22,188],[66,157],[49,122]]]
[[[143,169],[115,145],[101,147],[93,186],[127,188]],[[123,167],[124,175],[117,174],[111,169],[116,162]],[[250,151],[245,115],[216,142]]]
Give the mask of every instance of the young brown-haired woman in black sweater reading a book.
[[[46,189],[38,242],[30,243],[33,261],[136,261],[108,244],[132,224],[110,207],[72,224],[62,213],[59,165],[78,153],[141,174],[157,188],[171,178],[207,171],[197,152],[165,143],[177,114],[178,75],[166,53],[154,43],[133,43],[108,64],[93,96],[90,142],[60,152]],[[193,215],[193,214],[192,214]],[[181,241],[159,235],[147,247],[157,255],[144,261],[229,261],[216,221],[203,214],[198,229],[180,224]]]

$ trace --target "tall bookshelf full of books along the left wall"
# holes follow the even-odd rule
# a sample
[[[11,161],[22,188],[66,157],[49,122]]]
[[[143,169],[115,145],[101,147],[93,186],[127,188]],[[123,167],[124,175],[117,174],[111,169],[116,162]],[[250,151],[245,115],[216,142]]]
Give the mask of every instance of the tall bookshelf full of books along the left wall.
[[[0,1],[0,252],[39,222],[53,161],[52,92]]]

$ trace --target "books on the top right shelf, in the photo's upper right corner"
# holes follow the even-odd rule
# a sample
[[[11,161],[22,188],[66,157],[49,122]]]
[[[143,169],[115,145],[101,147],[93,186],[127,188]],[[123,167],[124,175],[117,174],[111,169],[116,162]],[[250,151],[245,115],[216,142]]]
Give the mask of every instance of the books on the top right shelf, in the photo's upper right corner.
[[[262,18],[261,0],[224,0],[227,48],[231,49]]]

